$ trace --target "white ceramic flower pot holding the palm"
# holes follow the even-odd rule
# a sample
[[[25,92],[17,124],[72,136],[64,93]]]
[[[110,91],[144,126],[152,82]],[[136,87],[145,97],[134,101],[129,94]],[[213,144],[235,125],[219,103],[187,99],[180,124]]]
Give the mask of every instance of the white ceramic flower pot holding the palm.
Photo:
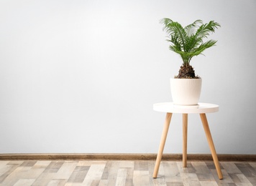
[[[201,94],[202,79],[170,79],[170,92],[173,103],[197,105]]]

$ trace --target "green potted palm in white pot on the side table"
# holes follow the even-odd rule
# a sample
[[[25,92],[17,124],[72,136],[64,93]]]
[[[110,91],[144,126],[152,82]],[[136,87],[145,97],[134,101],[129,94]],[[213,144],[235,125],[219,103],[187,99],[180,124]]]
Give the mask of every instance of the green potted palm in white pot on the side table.
[[[178,105],[197,105],[201,94],[201,77],[196,76],[190,62],[192,57],[202,54],[205,49],[216,44],[216,41],[207,39],[209,34],[220,27],[215,21],[204,24],[196,20],[188,26],[181,26],[178,22],[164,18],[160,20],[163,30],[168,34],[169,49],[180,55],[183,64],[178,75],[170,79],[170,89],[173,103]]]

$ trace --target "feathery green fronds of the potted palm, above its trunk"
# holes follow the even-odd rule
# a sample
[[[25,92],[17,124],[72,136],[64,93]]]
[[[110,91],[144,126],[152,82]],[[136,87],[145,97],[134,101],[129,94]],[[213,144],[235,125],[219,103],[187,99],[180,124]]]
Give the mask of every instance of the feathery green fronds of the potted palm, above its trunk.
[[[168,34],[167,41],[171,43],[169,49],[180,54],[183,64],[189,64],[192,57],[202,54],[205,49],[216,44],[214,40],[206,42],[203,40],[220,26],[214,21],[203,24],[199,19],[184,28],[178,22],[168,18],[161,19],[160,23],[164,25],[163,30]]]

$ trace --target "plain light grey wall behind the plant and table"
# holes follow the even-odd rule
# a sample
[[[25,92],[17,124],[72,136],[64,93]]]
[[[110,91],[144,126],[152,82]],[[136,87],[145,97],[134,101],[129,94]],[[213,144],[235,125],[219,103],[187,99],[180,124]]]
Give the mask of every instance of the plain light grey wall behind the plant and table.
[[[256,154],[256,1],[0,1],[0,153],[156,153],[180,57],[159,20],[221,24],[191,64],[216,150]],[[188,153],[209,153],[198,114]],[[182,152],[174,114],[166,153]]]

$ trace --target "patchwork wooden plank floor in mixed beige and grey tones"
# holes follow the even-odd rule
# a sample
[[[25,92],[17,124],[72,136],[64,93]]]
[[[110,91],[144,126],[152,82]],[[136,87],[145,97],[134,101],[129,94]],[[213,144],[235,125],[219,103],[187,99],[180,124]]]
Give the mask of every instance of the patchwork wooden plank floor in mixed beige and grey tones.
[[[256,162],[214,163],[162,161],[152,179],[155,161],[0,161],[0,185],[256,185]]]

